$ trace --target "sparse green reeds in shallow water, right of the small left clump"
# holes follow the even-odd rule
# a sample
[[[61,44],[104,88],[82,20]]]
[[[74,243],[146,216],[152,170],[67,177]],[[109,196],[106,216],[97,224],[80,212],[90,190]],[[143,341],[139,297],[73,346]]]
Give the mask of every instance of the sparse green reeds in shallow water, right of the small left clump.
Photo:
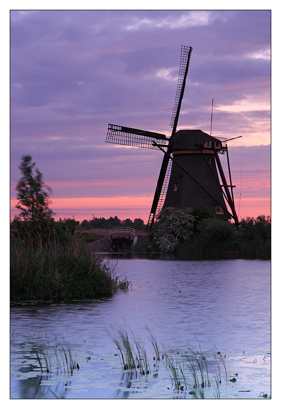
[[[128,331],[123,328],[115,331],[115,335],[109,334],[118,348],[122,369],[148,375],[151,371],[144,341],[133,333],[131,335],[130,340]],[[183,353],[166,350],[164,345],[161,344],[160,347],[156,337],[149,330],[148,339],[154,350],[154,356],[151,358],[156,368],[154,376],[158,376],[158,370],[164,367],[171,380],[171,389],[174,391],[183,393],[189,390],[188,393],[193,399],[204,399],[207,389],[210,389],[214,393],[214,398],[220,399],[220,385],[231,381],[230,369],[220,352],[209,353],[207,357],[201,351],[200,344],[198,351],[195,351],[189,343],[187,351]]]

